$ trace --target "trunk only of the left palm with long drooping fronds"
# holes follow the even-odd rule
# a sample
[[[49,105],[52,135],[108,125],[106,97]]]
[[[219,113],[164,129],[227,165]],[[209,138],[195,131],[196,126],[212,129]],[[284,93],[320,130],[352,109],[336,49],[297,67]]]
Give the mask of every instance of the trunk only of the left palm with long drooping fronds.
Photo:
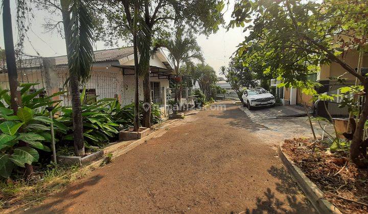
[[[62,19],[65,35],[66,55],[68,60],[72,58],[71,51],[71,18],[69,7],[70,3],[67,1],[60,1],[62,6]],[[70,69],[70,66],[69,66]],[[72,93],[72,118],[73,118],[73,133],[74,133],[74,150],[77,156],[83,156],[84,152],[84,138],[83,138],[83,119],[82,109],[79,93],[79,78],[73,73],[69,72],[69,84]]]

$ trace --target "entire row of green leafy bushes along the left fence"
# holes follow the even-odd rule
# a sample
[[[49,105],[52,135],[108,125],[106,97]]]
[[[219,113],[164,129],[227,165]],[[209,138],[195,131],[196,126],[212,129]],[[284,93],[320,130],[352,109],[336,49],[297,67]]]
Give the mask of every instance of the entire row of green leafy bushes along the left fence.
[[[64,94],[58,92],[51,96],[38,96],[44,88],[30,92],[38,84],[22,84],[20,86],[21,101],[18,112],[14,115],[10,109],[8,90],[0,89],[0,176],[7,178],[17,167],[25,164],[50,163],[51,133],[50,124],[54,124],[56,150],[58,153],[73,154],[73,120],[72,108],[60,106],[61,100],[53,97]],[[85,89],[81,94],[81,110],[83,117],[83,136],[86,148],[92,149],[117,139],[118,128],[128,128],[134,122],[134,103],[121,106],[114,98],[94,101],[96,97],[84,99]],[[55,105],[49,117],[47,106]],[[152,124],[162,121],[157,104],[151,107]],[[140,119],[143,118],[143,102],[140,102]],[[25,147],[20,142],[26,142]]]

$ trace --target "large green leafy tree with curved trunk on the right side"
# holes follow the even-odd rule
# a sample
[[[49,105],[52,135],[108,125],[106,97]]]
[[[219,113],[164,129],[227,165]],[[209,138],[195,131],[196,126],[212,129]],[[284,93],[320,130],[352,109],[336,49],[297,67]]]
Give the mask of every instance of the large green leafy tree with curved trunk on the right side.
[[[367,100],[368,79],[343,60],[349,51],[368,50],[367,1],[242,0],[236,3],[232,17],[229,28],[248,24],[244,31],[249,36],[237,52],[245,66],[256,64],[284,86],[315,94],[315,84],[307,76],[317,72],[320,65],[335,62],[360,81],[364,88],[360,92]],[[319,98],[333,99],[326,95]],[[368,143],[361,139],[367,116],[365,102],[350,150],[352,161],[359,167],[367,166]]]

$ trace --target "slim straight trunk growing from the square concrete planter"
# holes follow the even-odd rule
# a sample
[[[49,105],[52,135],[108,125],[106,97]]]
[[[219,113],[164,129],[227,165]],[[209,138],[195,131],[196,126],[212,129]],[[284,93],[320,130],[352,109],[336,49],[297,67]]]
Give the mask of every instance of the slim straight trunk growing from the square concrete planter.
[[[134,50],[134,79],[135,79],[135,91],[134,91],[134,131],[139,131],[139,62],[138,62],[138,49],[137,49],[137,19],[138,19],[138,5],[134,5],[134,19],[133,19],[133,50]]]

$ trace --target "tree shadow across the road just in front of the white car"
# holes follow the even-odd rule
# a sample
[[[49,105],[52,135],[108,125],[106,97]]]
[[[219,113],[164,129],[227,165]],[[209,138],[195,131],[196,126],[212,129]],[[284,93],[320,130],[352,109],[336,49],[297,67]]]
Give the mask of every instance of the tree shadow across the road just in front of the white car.
[[[216,105],[215,105],[216,106]],[[219,107],[223,108],[224,105],[219,105]],[[239,106],[235,104],[226,104],[225,105],[226,111],[222,111],[221,113],[217,113],[214,115],[209,115],[209,117],[215,117],[219,119],[226,119],[228,125],[237,128],[244,128],[250,131],[258,131],[261,129],[268,129],[264,125],[257,124],[252,122],[250,118],[244,114],[243,111],[239,110]],[[225,110],[225,109],[223,109]]]

